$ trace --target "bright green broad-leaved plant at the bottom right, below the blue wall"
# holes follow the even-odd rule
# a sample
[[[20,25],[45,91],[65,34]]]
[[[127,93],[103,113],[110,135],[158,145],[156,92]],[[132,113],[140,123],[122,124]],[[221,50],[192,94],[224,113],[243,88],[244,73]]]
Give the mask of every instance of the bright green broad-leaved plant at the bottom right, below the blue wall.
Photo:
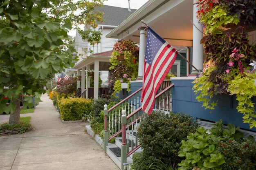
[[[185,157],[178,165],[179,170],[191,170],[194,167],[200,170],[221,170],[225,159],[221,152],[218,152],[219,145],[227,138],[240,140],[243,136],[233,124],[228,124],[227,129],[222,129],[222,121],[213,124],[213,128],[199,127],[195,133],[190,133],[187,140],[182,140],[179,156]]]

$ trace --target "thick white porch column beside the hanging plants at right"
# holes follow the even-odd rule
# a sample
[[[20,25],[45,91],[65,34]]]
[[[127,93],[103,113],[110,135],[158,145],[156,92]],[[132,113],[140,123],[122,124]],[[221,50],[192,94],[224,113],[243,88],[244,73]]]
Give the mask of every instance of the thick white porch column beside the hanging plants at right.
[[[203,69],[203,45],[200,44],[200,40],[203,38],[202,34],[202,26],[198,23],[198,18],[196,18],[196,12],[198,11],[199,7],[198,4],[195,4],[197,0],[194,0],[193,5],[193,23],[195,26],[201,31],[198,31],[195,26],[193,26],[193,65],[195,68],[197,68],[199,71],[202,71]],[[198,72],[192,68],[191,74],[198,74]]]

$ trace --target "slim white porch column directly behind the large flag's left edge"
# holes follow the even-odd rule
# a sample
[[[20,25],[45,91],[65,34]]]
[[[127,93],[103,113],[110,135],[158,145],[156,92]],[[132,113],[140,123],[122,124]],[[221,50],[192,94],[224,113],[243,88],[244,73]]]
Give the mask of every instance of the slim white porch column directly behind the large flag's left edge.
[[[138,79],[142,79],[143,76],[143,67],[144,67],[144,55],[145,55],[145,46],[146,46],[146,27],[139,27],[139,73]]]

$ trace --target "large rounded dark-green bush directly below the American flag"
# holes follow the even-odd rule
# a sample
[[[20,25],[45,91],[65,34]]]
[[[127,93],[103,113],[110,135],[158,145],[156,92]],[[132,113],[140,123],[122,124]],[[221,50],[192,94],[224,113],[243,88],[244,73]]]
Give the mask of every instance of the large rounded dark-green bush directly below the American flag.
[[[181,141],[186,139],[189,132],[195,132],[197,127],[197,123],[188,115],[165,114],[156,110],[144,116],[137,129],[137,137],[147,156],[177,165],[182,160],[178,157]]]

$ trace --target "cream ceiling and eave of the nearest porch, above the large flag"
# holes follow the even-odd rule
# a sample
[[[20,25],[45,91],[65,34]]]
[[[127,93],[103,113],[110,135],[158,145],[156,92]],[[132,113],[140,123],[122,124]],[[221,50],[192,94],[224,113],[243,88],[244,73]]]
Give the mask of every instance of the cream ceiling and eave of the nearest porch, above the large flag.
[[[193,0],[149,0],[141,8],[143,10],[138,9],[139,12],[131,15],[132,19],[129,17],[106,37],[139,43],[137,28],[145,26],[140,22],[143,19],[170,44],[192,46]]]

